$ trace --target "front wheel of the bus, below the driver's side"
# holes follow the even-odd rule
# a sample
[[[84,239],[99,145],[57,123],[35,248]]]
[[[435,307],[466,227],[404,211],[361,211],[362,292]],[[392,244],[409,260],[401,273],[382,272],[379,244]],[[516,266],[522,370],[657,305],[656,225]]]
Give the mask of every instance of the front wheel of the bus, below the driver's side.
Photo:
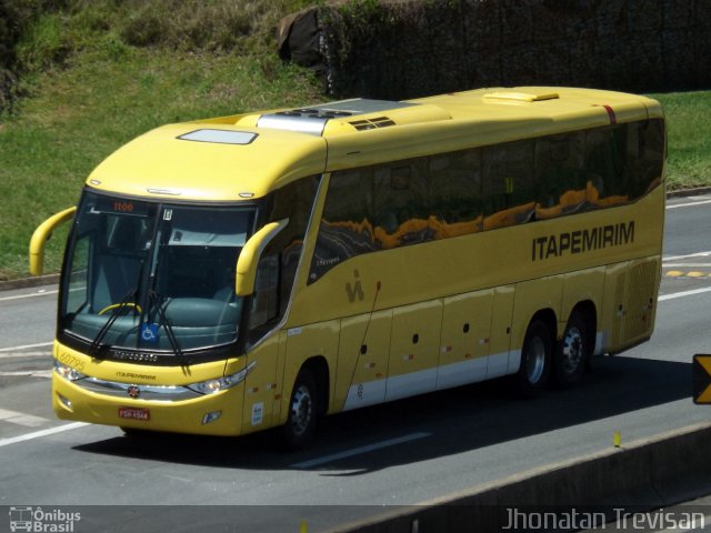
[[[301,369],[293,384],[289,414],[284,424],[284,444],[288,450],[303,450],[313,442],[319,413],[318,390],[313,373]]]

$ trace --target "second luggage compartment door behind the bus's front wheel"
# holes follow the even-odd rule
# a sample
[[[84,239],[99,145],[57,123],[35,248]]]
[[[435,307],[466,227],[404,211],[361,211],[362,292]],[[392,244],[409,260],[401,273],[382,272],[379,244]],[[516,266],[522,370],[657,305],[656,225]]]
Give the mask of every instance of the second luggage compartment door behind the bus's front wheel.
[[[442,308],[434,300],[393,310],[385,400],[435,389]]]

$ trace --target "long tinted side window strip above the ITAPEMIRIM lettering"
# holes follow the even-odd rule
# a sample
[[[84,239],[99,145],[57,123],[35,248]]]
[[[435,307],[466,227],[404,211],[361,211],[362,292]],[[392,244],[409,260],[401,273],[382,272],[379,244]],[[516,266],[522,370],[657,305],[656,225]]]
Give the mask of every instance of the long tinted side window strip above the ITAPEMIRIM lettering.
[[[663,159],[650,120],[333,172],[309,282],[362,253],[631,202]]]

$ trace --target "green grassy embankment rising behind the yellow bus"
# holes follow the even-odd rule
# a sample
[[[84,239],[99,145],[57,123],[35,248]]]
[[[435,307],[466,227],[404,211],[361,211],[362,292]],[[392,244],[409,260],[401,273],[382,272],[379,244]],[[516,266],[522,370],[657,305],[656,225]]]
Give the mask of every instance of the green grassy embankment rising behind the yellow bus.
[[[171,7],[172,3],[172,7]],[[27,272],[32,230],[76,203],[91,169],[162,123],[322,99],[276,56],[278,19],[307,0],[66,0],[26,31],[21,100],[0,117],[0,280]],[[711,184],[711,92],[657,94],[671,188]],[[48,245],[60,266],[64,232]]]

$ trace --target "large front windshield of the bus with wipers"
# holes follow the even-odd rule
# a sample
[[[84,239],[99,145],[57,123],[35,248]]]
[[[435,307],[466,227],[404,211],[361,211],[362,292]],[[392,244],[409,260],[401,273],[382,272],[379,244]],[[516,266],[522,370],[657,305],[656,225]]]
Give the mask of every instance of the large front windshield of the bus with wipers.
[[[253,220],[254,209],[86,192],[68,248],[60,334],[90,342],[92,355],[107,348],[180,355],[234,342],[242,308],[234,269]]]

